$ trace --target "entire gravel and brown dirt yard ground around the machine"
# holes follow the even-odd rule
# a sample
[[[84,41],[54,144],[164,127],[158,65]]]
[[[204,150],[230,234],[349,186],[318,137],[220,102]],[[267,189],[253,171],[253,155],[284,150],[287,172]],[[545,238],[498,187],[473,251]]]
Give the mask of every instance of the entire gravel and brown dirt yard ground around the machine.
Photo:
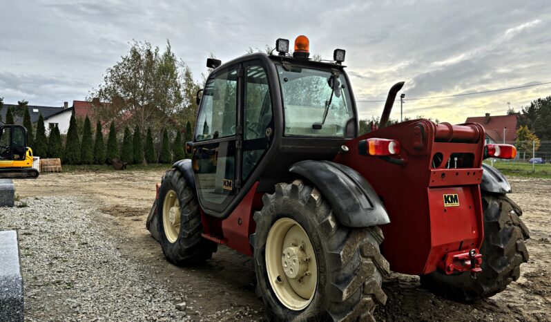
[[[14,180],[21,196],[0,208],[17,229],[28,321],[259,321],[251,258],[219,247],[198,267],[168,263],[145,229],[164,171],[55,173]],[[530,228],[521,278],[490,299],[456,303],[417,276],[383,282],[378,321],[551,321],[551,180],[510,178]],[[176,304],[185,302],[184,311]],[[1,317],[0,317],[1,321]],[[2,321],[3,322],[3,321]]]

